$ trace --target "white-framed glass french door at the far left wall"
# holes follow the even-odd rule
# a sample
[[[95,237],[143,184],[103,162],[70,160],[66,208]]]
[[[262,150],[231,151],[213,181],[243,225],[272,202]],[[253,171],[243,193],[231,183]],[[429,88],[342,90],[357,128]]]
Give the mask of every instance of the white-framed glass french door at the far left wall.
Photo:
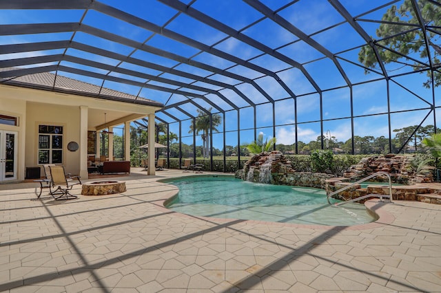
[[[0,181],[17,179],[17,132],[0,130]]]

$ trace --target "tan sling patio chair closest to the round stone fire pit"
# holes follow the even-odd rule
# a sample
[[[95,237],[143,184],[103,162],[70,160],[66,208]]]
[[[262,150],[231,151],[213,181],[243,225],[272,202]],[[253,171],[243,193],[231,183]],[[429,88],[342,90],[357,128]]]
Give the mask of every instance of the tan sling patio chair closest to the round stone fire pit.
[[[72,187],[77,184],[81,184],[81,180],[79,176],[72,177],[70,174],[66,176],[64,171],[64,166],[58,165],[49,165],[50,169],[50,178],[51,178],[51,187],[50,194],[54,199],[57,200],[65,200],[65,199],[75,199],[76,195],[71,195],[70,190]],[[57,188],[55,188],[57,186]],[[52,188],[55,188],[52,190]],[[55,197],[55,194],[61,194],[59,197]]]

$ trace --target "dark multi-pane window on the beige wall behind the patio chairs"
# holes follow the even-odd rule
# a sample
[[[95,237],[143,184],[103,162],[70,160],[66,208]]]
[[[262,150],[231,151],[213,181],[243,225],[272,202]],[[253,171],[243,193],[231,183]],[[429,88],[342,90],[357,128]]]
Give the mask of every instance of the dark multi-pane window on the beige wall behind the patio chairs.
[[[39,125],[39,164],[63,163],[63,127]]]

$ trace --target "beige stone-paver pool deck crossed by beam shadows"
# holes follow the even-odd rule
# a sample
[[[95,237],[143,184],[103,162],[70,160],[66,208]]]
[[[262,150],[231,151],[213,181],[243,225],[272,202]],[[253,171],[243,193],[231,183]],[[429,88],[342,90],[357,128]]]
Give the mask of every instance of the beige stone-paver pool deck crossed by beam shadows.
[[[380,219],[350,227],[209,219],[164,208],[176,188],[157,182],[204,174],[145,172],[69,201],[0,184],[0,292],[441,292],[441,205],[371,200]]]

